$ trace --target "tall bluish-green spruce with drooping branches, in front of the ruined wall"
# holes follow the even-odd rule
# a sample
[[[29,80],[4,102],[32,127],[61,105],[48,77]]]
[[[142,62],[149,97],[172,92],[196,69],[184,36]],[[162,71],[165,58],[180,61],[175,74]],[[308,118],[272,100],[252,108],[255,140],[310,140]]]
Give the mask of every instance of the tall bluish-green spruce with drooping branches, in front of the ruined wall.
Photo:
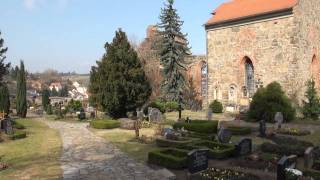
[[[173,4],[174,0],[168,0],[165,8],[161,10],[161,23],[158,24],[163,37],[160,61],[164,80],[161,91],[165,99],[179,103],[179,119],[181,119],[182,94],[186,88],[185,56],[189,54],[190,49],[186,35],[181,32],[183,21],[180,20]]]

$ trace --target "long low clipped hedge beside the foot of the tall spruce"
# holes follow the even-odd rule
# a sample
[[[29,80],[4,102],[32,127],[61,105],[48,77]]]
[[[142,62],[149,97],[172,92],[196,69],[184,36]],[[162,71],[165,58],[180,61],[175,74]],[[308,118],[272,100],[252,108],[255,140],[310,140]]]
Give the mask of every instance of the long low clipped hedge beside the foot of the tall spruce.
[[[218,121],[193,120],[191,123],[177,122],[173,125],[174,129],[181,129],[182,127],[188,131],[215,134],[217,133]]]

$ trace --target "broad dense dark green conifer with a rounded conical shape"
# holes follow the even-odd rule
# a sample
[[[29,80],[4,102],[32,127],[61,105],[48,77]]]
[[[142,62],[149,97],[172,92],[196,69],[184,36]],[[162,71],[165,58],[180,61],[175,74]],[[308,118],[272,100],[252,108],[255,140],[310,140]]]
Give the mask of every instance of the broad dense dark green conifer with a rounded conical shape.
[[[150,84],[125,32],[117,31],[112,43],[106,43],[105,49],[101,62],[97,62],[97,72],[91,71],[90,93],[101,97],[98,101],[108,115],[124,117],[148,100]],[[97,86],[101,95],[94,90]]]

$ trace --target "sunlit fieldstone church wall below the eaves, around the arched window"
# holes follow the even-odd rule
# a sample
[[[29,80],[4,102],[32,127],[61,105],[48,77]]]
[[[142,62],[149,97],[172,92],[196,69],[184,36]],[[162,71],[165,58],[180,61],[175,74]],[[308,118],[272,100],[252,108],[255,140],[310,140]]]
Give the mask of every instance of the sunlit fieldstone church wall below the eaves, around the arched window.
[[[299,59],[293,56],[298,48],[295,28],[293,15],[288,15],[207,30],[207,103],[219,99],[224,104],[248,104],[243,93],[245,57],[253,63],[255,85],[266,86],[278,81],[292,95],[299,68]],[[230,87],[235,88],[232,95]]]

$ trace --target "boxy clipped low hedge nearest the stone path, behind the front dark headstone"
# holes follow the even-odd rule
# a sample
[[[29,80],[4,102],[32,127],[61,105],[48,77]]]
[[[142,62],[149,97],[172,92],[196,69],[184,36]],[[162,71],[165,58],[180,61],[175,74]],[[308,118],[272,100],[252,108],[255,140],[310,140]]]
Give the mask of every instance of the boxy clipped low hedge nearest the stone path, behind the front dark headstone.
[[[165,149],[149,152],[148,163],[169,169],[184,169],[187,167],[188,152],[181,149]]]

